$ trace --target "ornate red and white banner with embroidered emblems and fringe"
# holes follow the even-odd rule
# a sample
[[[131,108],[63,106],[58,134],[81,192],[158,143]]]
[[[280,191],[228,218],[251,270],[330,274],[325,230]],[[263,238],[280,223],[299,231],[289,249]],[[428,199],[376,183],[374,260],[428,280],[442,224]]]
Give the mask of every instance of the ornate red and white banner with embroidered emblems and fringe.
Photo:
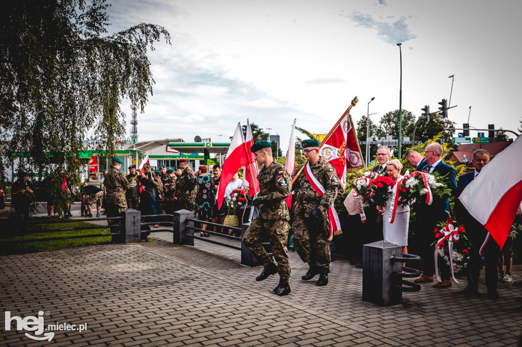
[[[324,140],[319,151],[323,159],[335,167],[343,190],[346,188],[347,170],[364,167],[361,148],[352,124],[350,114],[346,113]]]

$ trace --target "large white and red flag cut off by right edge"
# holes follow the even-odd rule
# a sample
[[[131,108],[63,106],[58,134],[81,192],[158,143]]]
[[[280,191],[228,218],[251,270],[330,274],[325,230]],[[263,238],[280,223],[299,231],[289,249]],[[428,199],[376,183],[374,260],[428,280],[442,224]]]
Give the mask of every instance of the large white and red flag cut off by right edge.
[[[460,202],[502,248],[522,202],[522,135],[495,155],[468,184]]]

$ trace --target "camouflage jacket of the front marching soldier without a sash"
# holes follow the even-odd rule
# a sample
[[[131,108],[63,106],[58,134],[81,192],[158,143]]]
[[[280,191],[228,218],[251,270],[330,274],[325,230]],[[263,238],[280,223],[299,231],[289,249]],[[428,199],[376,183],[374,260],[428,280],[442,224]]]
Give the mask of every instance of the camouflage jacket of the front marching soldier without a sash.
[[[284,166],[274,160],[269,167],[263,167],[259,171],[257,180],[259,181],[259,196],[263,198],[258,217],[290,220],[290,212],[284,199],[290,196],[292,183]]]

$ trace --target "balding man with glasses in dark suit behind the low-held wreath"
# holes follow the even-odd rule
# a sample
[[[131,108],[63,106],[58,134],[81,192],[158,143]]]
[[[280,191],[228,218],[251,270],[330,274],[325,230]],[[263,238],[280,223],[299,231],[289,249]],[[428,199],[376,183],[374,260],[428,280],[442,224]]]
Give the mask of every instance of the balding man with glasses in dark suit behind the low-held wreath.
[[[443,182],[446,187],[452,191],[452,195],[457,190],[457,181],[455,179],[455,170],[442,162],[442,146],[438,142],[430,143],[426,147],[426,163],[422,170],[428,171],[428,173],[437,173],[439,177],[443,177]],[[415,280],[418,283],[433,282],[433,271],[435,269],[434,262],[434,249],[431,246],[435,241],[435,234],[433,230],[437,226],[438,222],[445,221],[449,216],[449,197],[440,198],[433,196],[433,202],[431,205],[419,203],[416,205],[418,210],[418,221],[419,231],[422,235],[422,247],[423,253],[423,270],[424,274],[421,278]],[[449,265],[443,259],[438,261],[441,267],[441,278],[442,282],[435,284],[437,288],[447,288],[452,286],[452,280],[450,279]]]

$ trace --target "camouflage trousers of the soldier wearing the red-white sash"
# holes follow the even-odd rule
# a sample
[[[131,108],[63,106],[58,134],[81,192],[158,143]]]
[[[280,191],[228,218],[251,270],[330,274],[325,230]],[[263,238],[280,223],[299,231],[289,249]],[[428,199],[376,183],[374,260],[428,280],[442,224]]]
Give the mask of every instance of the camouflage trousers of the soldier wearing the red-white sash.
[[[330,268],[330,223],[328,219],[295,215],[293,242],[301,260],[317,267]]]

